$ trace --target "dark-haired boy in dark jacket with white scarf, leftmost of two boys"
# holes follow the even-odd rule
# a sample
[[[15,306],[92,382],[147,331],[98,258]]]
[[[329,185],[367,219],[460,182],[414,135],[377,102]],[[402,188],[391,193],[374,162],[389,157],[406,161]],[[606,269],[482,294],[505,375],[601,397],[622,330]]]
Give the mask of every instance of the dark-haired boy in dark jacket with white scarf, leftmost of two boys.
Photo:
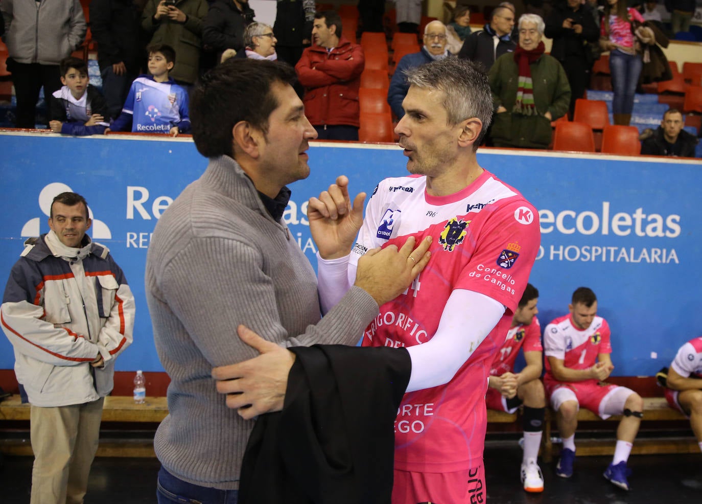
[[[107,102],[98,88],[88,84],[88,65],[79,58],[63,58],[61,84],[50,98],[49,128],[64,135],[102,135],[108,124]]]

